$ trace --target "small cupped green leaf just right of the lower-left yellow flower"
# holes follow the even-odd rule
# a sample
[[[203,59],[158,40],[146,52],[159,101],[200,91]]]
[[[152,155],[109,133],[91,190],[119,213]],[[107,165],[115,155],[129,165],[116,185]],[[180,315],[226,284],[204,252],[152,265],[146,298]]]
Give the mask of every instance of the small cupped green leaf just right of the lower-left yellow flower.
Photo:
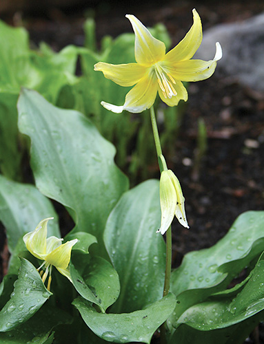
[[[101,308],[102,312],[119,297],[119,277],[112,265],[101,257],[83,256],[82,276],[70,264],[72,283],[81,296]]]

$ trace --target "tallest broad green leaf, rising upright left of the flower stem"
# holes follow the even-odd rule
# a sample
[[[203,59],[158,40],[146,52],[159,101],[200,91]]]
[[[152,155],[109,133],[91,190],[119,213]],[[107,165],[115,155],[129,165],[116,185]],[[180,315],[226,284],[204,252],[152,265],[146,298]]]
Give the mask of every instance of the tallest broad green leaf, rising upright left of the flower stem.
[[[24,89],[19,129],[31,139],[31,165],[44,195],[72,209],[74,231],[90,233],[103,252],[106,219],[128,178],[114,164],[115,149],[77,111],[62,110]]]

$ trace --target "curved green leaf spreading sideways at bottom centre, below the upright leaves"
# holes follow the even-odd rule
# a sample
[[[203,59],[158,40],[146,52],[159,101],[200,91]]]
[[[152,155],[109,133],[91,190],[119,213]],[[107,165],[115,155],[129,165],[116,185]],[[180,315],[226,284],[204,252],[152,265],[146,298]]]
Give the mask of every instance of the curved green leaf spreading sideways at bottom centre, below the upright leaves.
[[[72,304],[90,329],[105,341],[150,343],[152,335],[173,311],[175,303],[174,295],[168,294],[144,310],[124,314],[98,313],[81,297],[74,299]]]

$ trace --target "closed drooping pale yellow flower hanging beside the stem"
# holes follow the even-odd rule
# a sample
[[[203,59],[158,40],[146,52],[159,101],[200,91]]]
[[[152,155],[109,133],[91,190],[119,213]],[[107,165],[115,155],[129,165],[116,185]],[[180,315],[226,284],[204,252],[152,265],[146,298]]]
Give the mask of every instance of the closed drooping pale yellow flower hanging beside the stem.
[[[181,185],[171,170],[161,173],[159,193],[161,200],[161,228],[157,232],[164,234],[172,224],[174,215],[183,227],[189,228],[185,215]]]

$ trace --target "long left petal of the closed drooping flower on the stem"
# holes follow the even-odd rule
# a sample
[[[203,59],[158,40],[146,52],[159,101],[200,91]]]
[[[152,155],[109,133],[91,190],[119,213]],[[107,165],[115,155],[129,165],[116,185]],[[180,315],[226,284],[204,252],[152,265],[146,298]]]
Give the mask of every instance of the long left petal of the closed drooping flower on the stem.
[[[157,232],[161,232],[163,235],[172,224],[177,204],[176,191],[168,171],[161,173],[159,196],[161,202],[161,228]]]

